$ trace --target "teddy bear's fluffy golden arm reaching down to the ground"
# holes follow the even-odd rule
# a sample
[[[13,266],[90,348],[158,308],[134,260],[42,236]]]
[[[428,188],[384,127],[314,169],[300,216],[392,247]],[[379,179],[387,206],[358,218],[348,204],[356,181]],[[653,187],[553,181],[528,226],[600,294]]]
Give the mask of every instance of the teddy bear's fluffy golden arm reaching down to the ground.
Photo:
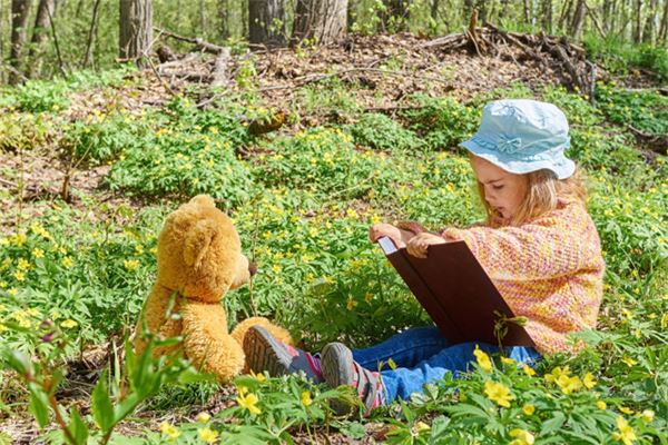
[[[227,332],[219,304],[188,301],[183,310],[184,348],[193,365],[219,380],[229,380],[244,367],[245,355]]]

